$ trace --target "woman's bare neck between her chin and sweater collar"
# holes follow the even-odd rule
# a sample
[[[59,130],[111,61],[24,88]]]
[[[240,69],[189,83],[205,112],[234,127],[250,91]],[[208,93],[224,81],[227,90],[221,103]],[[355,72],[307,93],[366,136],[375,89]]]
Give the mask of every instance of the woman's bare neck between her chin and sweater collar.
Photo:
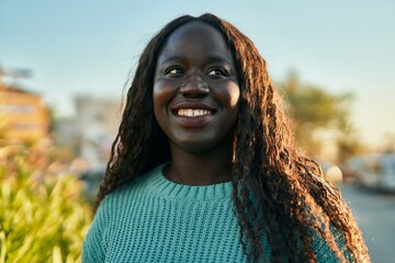
[[[170,146],[171,164],[165,175],[180,184],[211,185],[230,181],[232,150],[222,146],[210,152],[187,152]]]

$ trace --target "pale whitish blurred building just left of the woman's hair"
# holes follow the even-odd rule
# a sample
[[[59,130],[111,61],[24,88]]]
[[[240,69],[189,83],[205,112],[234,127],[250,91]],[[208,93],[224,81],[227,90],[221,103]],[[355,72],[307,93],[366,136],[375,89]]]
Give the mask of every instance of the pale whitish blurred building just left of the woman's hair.
[[[106,162],[121,122],[120,102],[94,95],[77,95],[75,105],[76,116],[56,124],[56,142],[71,146],[77,156],[90,164]]]

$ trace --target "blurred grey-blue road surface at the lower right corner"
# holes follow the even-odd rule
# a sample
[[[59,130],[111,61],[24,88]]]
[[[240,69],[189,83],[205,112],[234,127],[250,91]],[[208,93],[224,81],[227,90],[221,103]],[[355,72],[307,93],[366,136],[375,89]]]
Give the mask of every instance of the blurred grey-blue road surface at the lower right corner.
[[[359,222],[372,262],[395,262],[395,194],[351,185],[339,188]]]

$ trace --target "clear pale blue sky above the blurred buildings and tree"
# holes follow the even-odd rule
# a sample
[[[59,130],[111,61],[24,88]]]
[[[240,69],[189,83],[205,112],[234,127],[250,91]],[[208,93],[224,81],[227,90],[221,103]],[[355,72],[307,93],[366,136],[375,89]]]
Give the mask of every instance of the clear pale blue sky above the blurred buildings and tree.
[[[296,70],[330,92],[351,91],[363,139],[395,133],[395,1],[0,0],[0,66],[59,115],[72,96],[120,100],[147,41],[181,14],[215,13],[258,46],[273,79]]]

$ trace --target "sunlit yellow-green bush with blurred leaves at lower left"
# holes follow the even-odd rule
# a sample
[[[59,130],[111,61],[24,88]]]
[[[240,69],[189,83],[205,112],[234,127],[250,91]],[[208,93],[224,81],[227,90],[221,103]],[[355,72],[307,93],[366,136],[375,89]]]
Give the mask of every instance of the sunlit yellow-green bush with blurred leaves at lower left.
[[[0,263],[79,262],[92,219],[81,184],[47,174],[29,155],[1,155],[0,148]]]

